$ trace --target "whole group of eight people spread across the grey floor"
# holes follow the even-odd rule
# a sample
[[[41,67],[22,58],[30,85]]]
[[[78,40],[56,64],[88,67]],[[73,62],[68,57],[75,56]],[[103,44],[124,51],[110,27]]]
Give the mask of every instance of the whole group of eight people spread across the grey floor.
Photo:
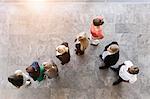
[[[100,40],[104,38],[104,33],[102,31],[103,24],[103,17],[98,16],[92,20],[90,26],[90,38],[85,32],[81,32],[76,36],[74,41],[76,55],[84,55],[89,44],[92,46],[99,45]],[[105,64],[104,66],[100,66],[99,69],[111,68],[117,73],[118,79],[113,83],[113,85],[117,85],[122,81],[134,83],[137,80],[139,68],[131,61],[125,61],[119,65],[118,68],[112,67],[119,60],[119,51],[119,44],[116,41],[108,44],[104,48],[102,54],[99,55]],[[61,61],[62,65],[70,61],[69,44],[67,42],[62,42],[62,44],[56,47],[56,57]],[[23,73],[21,70],[16,70],[13,75],[8,77],[8,81],[17,88],[20,88],[23,85],[29,86],[31,84],[30,78],[34,81],[40,82],[46,78],[52,79],[59,77],[58,67],[53,60],[43,62],[40,65],[37,61],[35,61],[26,68],[26,72],[28,75]]]

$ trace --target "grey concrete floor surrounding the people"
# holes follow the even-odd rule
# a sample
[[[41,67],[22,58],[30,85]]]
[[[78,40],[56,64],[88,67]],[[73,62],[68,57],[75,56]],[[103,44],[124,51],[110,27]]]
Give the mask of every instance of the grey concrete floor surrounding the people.
[[[38,5],[40,9],[38,3],[11,1],[15,0],[0,2],[0,99],[150,99],[149,0],[48,2]],[[105,38],[98,47],[89,46],[84,56],[76,56],[75,35],[89,33],[97,15],[104,16]],[[102,64],[98,55],[114,40],[121,47],[115,66],[131,60],[140,67],[133,85],[112,86],[114,72],[98,69]],[[64,66],[55,57],[55,47],[63,41],[69,42],[71,52],[71,61]],[[58,65],[59,80],[33,82],[21,89],[7,81],[16,69],[25,71],[34,60],[42,63],[50,58]]]

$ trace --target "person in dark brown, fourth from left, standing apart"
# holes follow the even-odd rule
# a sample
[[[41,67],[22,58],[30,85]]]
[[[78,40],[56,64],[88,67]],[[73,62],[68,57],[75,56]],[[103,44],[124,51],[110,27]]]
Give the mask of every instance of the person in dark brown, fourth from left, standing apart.
[[[70,52],[67,42],[63,42],[61,45],[56,47],[56,57],[61,61],[62,65],[70,61]]]

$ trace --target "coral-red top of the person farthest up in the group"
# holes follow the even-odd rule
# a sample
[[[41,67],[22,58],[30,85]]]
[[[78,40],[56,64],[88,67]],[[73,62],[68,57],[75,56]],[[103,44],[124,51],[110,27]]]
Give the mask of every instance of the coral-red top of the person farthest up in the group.
[[[99,18],[100,20],[102,20],[103,18],[101,16],[98,16],[97,18]],[[98,39],[102,39],[104,38],[104,34],[102,31],[102,26],[94,26],[94,24],[92,23],[91,27],[90,27],[90,31],[93,37],[98,38]]]

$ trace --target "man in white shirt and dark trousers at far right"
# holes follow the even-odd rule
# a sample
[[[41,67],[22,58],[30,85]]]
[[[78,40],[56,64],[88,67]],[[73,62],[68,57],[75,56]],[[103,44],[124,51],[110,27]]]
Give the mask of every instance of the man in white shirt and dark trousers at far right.
[[[123,64],[119,65],[118,68],[112,68],[112,70],[116,71],[119,75],[119,79],[113,83],[113,85],[117,85],[120,82],[129,82],[134,83],[137,80],[137,74],[139,73],[139,68],[131,61],[125,61]]]

